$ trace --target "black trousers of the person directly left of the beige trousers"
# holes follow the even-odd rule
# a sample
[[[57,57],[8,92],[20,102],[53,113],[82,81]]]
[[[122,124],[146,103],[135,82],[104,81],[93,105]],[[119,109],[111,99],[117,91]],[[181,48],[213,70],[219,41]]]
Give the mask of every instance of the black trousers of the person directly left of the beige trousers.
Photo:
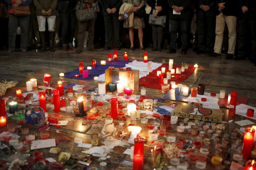
[[[197,16],[198,48],[206,53],[212,53],[215,40],[215,17]]]

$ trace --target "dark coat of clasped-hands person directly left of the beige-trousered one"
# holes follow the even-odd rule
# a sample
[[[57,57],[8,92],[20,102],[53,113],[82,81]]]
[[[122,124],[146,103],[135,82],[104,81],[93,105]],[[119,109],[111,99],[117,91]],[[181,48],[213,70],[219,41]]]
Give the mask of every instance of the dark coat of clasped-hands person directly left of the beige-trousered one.
[[[210,9],[205,12],[200,8],[201,5],[208,5]],[[204,15],[207,17],[215,16],[216,4],[214,0],[197,0],[195,3],[195,6],[196,6],[197,16],[204,16]]]

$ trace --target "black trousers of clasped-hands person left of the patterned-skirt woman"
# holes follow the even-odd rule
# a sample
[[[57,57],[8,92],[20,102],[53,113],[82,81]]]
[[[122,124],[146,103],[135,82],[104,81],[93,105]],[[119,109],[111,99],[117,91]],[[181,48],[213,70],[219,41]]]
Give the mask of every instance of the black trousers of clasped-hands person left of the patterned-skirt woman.
[[[114,32],[114,47],[120,47],[120,20],[118,16],[113,14],[104,16],[105,24],[105,42],[107,47],[111,47],[113,43]]]

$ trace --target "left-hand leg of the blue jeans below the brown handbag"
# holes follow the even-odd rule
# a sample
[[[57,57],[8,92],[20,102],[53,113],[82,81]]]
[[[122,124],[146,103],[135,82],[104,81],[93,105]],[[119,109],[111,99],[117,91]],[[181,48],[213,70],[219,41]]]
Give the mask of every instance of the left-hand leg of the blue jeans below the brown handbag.
[[[17,34],[17,28],[19,25],[19,17],[16,17],[14,14],[9,13],[9,37],[8,37],[8,51],[12,52],[15,50],[15,40]]]

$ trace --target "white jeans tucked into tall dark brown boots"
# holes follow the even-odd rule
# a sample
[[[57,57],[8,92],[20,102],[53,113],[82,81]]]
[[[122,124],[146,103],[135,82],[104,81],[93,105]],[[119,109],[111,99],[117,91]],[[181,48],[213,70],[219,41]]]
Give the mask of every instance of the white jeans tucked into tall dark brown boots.
[[[45,31],[45,22],[47,18],[48,31],[55,31],[55,19],[56,16],[36,16],[39,31]]]

